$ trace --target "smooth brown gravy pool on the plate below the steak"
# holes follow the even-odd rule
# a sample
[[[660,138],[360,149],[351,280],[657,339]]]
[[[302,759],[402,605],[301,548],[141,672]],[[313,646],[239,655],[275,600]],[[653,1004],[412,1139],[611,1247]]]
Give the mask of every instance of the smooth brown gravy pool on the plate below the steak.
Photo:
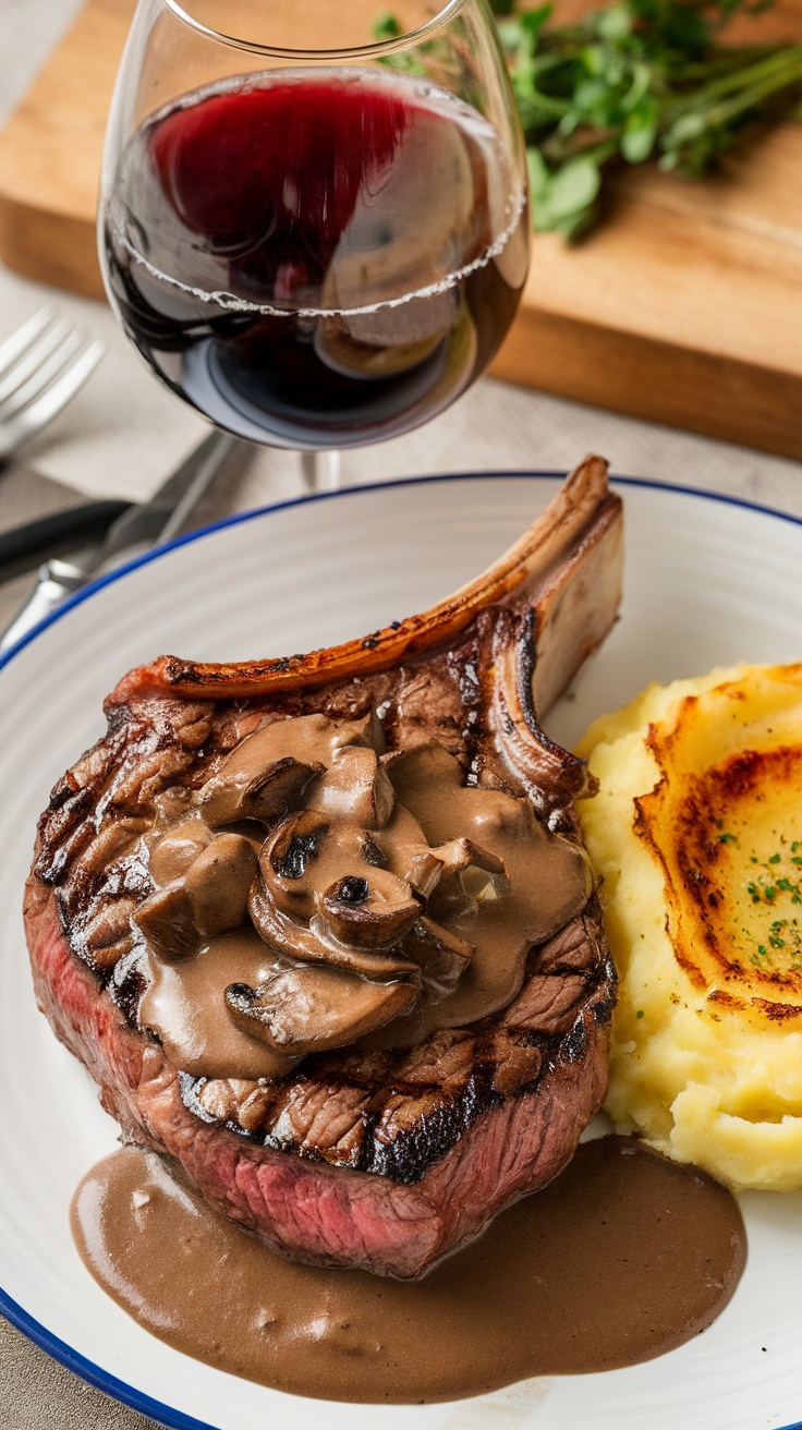
[[[100,1286],[177,1350],[300,1396],[399,1404],[649,1360],[715,1320],[746,1260],[732,1194],[623,1137],[580,1145],[422,1281],[286,1261],[133,1147],[89,1173],[71,1221]]]

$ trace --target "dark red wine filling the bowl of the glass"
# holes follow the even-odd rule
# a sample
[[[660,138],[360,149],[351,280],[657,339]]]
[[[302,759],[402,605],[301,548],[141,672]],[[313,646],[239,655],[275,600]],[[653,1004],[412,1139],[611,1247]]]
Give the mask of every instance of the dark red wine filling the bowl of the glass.
[[[220,426],[356,446],[417,426],[493,358],[525,196],[476,110],[383,70],[240,76],[120,159],[107,282],[156,372]]]

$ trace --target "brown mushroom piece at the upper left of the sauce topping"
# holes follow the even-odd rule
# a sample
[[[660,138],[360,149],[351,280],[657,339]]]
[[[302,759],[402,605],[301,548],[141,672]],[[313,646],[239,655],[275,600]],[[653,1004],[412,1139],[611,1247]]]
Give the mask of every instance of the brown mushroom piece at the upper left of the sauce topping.
[[[234,749],[199,791],[200,811],[213,827],[236,824],[237,819],[270,822],[282,818],[296,808],[306,786],[323,769],[323,765],[306,765],[292,755],[260,768],[253,768],[250,761],[240,761],[237,765],[239,754]]]

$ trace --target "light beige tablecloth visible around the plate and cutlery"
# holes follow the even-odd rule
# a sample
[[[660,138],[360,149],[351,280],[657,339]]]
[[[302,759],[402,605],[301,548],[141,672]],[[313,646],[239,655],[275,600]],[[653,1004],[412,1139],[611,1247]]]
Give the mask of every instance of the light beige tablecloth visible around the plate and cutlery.
[[[0,123],[77,9],[79,0],[0,0]],[[76,492],[146,498],[206,430],[190,409],[162,390],[99,303],[53,295],[0,269],[0,337],[53,297],[67,317],[103,336],[109,352],[73,405],[26,449],[24,465],[0,473],[0,525],[69,503]],[[422,430],[345,453],[343,480],[566,469],[589,450],[609,458],[618,473],[729,492],[802,515],[802,470],[795,462],[487,379]],[[212,490],[203,518],[302,489],[299,458],[264,450],[236,486]],[[24,588],[24,579],[0,588],[0,625]],[[83,1384],[1,1320],[0,1424],[4,1430],[153,1430],[153,1421]]]

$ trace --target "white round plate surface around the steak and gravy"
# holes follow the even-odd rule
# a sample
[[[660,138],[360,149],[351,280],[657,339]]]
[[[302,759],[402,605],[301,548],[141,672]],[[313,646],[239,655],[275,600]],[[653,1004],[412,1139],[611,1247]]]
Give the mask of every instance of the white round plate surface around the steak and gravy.
[[[623,486],[623,613],[548,721],[568,744],[646,681],[802,656],[801,523],[721,498]],[[0,1310],[166,1426],[778,1430],[802,1416],[802,1194],[743,1198],[743,1280],[705,1336],[672,1354],[480,1400],[380,1410],[263,1390],[189,1360],[106,1298],[70,1240],[71,1191],[114,1147],[116,1128],[34,1008],[20,894],[36,818],[100,735],[104,694],[160,652],[286,655],[420,611],[497,556],[556,489],[553,476],[439,478],[254,513],[99,583],[0,671]]]

